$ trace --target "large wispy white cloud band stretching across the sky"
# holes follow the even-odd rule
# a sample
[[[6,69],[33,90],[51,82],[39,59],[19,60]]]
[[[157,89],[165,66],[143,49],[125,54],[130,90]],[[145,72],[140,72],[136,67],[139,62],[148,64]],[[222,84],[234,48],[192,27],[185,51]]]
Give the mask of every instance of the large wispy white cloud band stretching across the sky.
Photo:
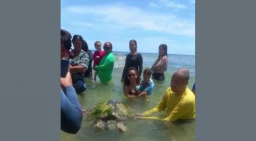
[[[145,12],[124,5],[69,6],[68,13],[90,17],[101,24],[114,24],[122,28],[139,28],[175,35],[195,37],[195,20],[178,18],[170,14]],[[95,21],[94,21],[95,22]],[[80,23],[82,24],[82,23]],[[92,26],[92,24],[83,24]]]

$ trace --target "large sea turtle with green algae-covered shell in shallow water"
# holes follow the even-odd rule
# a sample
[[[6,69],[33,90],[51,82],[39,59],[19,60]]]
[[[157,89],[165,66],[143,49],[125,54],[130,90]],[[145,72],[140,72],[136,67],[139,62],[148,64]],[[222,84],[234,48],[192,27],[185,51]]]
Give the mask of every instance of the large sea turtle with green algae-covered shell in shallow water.
[[[130,108],[114,100],[99,103],[91,110],[90,116],[95,119],[94,126],[98,131],[118,129],[122,133],[128,131],[123,122],[134,117]]]

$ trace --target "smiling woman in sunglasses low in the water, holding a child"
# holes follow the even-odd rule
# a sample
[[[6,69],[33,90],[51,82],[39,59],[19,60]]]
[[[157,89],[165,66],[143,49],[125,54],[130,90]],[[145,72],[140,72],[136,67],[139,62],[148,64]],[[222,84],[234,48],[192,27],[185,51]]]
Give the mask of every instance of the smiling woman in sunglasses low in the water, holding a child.
[[[136,86],[140,83],[140,77],[138,76],[139,74],[135,67],[131,67],[127,70],[123,86],[123,92],[127,98],[138,97],[139,91],[136,89]]]

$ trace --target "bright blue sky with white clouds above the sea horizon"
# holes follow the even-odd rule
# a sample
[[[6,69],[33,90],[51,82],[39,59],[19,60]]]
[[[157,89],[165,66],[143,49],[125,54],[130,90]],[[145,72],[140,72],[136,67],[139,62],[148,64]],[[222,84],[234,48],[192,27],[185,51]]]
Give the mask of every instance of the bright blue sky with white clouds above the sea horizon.
[[[129,51],[135,39],[138,52],[195,55],[195,0],[61,0],[61,28],[94,42],[109,41],[114,51]]]

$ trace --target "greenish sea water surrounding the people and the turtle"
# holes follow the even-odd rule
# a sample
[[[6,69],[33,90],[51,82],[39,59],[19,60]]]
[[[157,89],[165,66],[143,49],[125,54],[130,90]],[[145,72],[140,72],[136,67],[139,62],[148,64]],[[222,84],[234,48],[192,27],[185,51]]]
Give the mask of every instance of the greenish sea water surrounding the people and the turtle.
[[[135,113],[142,113],[155,107],[161,100],[165,90],[170,87],[172,73],[180,68],[186,67],[190,71],[190,80],[188,87],[192,88],[195,82],[195,56],[189,55],[168,55],[168,66],[165,72],[164,82],[154,80],[155,86],[149,101],[141,98],[127,100],[122,92],[122,83],[120,82],[126,54],[129,52],[115,52],[115,66],[113,70],[113,79],[108,85],[99,82],[93,83],[86,80],[87,92],[78,95],[79,101],[84,109],[91,109],[99,102],[108,100],[123,101]],[[141,53],[143,57],[143,70],[151,68],[152,64],[158,58],[155,53]],[[93,72],[94,73],[94,72]],[[153,115],[162,115],[159,112]],[[91,126],[86,119],[83,119],[82,127],[76,135],[71,135],[61,131],[61,141],[194,141],[195,140],[195,121],[185,123],[162,123],[153,120],[128,120],[124,123],[129,131],[122,134],[117,130],[106,130],[95,132],[95,127]]]

